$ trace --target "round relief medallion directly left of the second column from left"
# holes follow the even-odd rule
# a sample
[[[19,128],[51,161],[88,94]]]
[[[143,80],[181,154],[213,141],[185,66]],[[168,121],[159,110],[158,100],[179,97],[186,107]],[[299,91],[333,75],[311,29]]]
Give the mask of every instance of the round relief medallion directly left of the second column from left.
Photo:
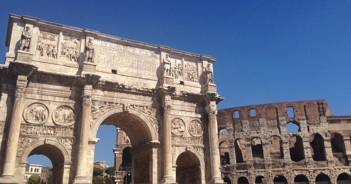
[[[77,120],[77,114],[73,107],[61,105],[52,113],[52,120],[57,125],[71,126]]]

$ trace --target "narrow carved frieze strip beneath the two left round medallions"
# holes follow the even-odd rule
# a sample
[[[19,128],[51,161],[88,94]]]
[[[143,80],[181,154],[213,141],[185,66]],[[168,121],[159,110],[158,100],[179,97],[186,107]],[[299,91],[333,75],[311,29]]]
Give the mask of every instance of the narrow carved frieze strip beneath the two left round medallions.
[[[71,127],[52,127],[44,125],[21,125],[20,134],[47,135],[47,136],[73,136]]]

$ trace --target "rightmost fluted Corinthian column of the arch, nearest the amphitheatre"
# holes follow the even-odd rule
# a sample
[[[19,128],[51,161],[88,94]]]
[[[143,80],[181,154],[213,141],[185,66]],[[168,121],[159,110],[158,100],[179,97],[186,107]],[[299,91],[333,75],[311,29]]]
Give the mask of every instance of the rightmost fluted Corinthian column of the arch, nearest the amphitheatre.
[[[217,129],[217,109],[206,112],[208,115],[208,134],[210,138],[210,158],[211,158],[211,183],[223,183],[219,171],[219,149],[218,149],[218,129]]]

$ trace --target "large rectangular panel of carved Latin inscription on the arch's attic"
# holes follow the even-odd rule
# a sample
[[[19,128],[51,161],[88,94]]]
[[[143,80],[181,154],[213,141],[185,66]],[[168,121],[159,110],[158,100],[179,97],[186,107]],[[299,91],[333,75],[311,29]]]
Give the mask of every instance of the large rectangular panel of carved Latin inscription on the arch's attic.
[[[94,61],[156,73],[160,56],[152,50],[95,39]]]

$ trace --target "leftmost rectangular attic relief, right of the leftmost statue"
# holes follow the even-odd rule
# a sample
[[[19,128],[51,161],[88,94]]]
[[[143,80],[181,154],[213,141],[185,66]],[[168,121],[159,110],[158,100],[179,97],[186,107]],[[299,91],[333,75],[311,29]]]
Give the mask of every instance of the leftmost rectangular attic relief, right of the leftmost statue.
[[[57,59],[57,38],[55,33],[40,31],[35,56]]]

